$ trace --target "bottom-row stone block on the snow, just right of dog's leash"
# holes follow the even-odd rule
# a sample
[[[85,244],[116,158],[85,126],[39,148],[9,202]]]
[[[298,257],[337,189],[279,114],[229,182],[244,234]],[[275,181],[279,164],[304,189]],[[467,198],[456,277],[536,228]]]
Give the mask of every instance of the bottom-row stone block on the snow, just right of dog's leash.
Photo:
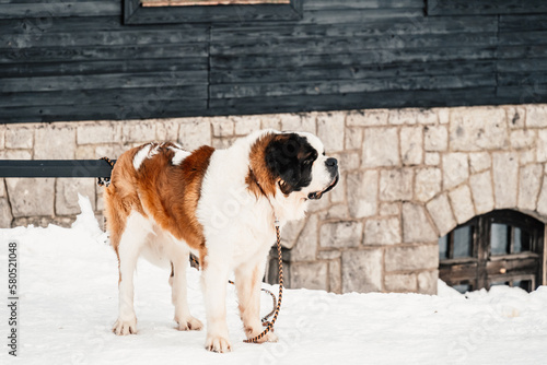
[[[290,272],[291,289],[328,290],[328,263],[325,261],[292,262]]]

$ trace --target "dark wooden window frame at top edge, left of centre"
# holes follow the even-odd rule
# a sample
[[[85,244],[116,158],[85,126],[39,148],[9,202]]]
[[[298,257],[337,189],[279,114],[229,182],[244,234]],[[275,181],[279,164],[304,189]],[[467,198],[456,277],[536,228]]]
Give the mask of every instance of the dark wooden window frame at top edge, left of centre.
[[[302,2],[141,7],[141,0],[124,0],[124,24],[298,21],[302,19]]]

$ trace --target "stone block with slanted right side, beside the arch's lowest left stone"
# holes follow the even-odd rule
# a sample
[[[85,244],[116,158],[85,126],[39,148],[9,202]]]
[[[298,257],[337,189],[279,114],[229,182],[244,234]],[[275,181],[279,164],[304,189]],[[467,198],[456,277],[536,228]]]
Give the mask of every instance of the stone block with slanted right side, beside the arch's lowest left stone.
[[[405,243],[427,243],[437,240],[438,236],[423,207],[403,203],[403,240]]]

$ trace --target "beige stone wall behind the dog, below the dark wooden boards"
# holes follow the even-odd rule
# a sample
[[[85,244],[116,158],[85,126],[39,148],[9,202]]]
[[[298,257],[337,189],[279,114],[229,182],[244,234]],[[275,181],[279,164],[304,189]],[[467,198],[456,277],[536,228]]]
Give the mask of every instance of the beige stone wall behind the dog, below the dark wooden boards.
[[[435,293],[438,238],[494,209],[547,217],[547,105],[0,126],[0,158],[116,158],[152,140],[224,148],[256,129],[318,134],[341,179],[283,229],[290,287]],[[5,179],[0,226],[68,225],[94,179]]]

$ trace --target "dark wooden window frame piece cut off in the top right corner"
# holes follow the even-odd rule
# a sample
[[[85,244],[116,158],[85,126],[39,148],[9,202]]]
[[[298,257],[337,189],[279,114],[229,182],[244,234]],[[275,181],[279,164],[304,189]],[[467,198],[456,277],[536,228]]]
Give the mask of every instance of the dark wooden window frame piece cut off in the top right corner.
[[[428,0],[428,15],[547,13],[544,0]]]

